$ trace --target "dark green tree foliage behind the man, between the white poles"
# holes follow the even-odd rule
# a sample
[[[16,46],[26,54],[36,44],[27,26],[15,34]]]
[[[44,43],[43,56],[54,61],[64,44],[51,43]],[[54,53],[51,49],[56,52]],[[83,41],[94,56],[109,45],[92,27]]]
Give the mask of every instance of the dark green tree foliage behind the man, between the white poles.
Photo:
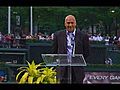
[[[111,12],[114,10],[115,12]],[[16,12],[16,13],[14,13]],[[38,26],[41,32],[55,32],[64,28],[64,18],[68,14],[76,16],[78,27],[86,28],[90,25],[112,25],[113,19],[120,24],[120,7],[72,7],[72,6],[40,6],[33,7],[33,27]],[[30,7],[11,7],[11,30],[15,28],[16,15],[21,16],[21,27],[29,28]],[[6,32],[8,28],[8,7],[0,7],[0,31]],[[49,27],[49,29],[47,29]],[[29,30],[29,29],[28,29]],[[105,31],[105,28],[103,28]]]

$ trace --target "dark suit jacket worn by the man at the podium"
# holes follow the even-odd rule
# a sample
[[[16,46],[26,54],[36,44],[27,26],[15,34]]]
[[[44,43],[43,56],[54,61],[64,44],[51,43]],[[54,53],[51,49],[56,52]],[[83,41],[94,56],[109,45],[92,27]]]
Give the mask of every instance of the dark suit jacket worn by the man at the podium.
[[[67,35],[66,30],[57,31],[54,34],[52,51],[55,54],[67,54]],[[84,34],[80,29],[76,29],[75,32],[75,54],[83,54],[84,58],[89,55],[89,38],[87,34]],[[65,68],[61,69],[61,72],[65,71]],[[74,67],[76,82],[82,81],[84,78],[83,68]],[[61,73],[62,74],[62,73]],[[82,76],[83,75],[83,76]],[[62,76],[64,76],[62,74]],[[74,75],[73,75],[74,76]],[[80,78],[81,77],[81,78]],[[74,77],[73,77],[74,78]]]

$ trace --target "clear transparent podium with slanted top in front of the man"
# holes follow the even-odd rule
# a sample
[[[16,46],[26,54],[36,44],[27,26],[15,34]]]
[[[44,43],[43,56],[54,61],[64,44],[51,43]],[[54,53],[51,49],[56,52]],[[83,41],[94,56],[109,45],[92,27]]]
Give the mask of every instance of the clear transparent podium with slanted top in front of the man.
[[[68,83],[70,84],[72,81],[71,67],[73,66],[87,66],[86,61],[82,54],[75,54],[74,56],[69,56],[68,54],[41,54],[43,61],[46,66],[53,67],[67,67],[68,68]],[[58,72],[58,76],[62,72]],[[60,80],[61,78],[58,77]]]

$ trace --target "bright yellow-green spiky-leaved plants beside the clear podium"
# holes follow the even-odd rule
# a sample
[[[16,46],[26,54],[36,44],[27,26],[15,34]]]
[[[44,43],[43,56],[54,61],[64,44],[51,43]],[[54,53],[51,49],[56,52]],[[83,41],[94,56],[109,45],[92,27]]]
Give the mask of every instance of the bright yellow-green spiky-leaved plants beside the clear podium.
[[[19,84],[57,84],[58,83],[56,79],[56,71],[53,67],[42,67],[42,63],[35,64],[34,60],[32,61],[31,64],[27,61],[27,64],[28,67],[18,68],[20,72],[16,75],[16,81]]]

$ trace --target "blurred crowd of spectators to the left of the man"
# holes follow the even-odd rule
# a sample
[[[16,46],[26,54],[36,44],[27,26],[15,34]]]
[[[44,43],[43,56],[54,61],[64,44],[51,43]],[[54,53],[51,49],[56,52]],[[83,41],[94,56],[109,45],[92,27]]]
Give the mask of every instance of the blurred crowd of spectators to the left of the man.
[[[52,40],[53,34],[45,35],[41,32],[35,35],[31,34],[2,34],[0,32],[0,47],[2,48],[20,48],[24,47],[27,40]]]

